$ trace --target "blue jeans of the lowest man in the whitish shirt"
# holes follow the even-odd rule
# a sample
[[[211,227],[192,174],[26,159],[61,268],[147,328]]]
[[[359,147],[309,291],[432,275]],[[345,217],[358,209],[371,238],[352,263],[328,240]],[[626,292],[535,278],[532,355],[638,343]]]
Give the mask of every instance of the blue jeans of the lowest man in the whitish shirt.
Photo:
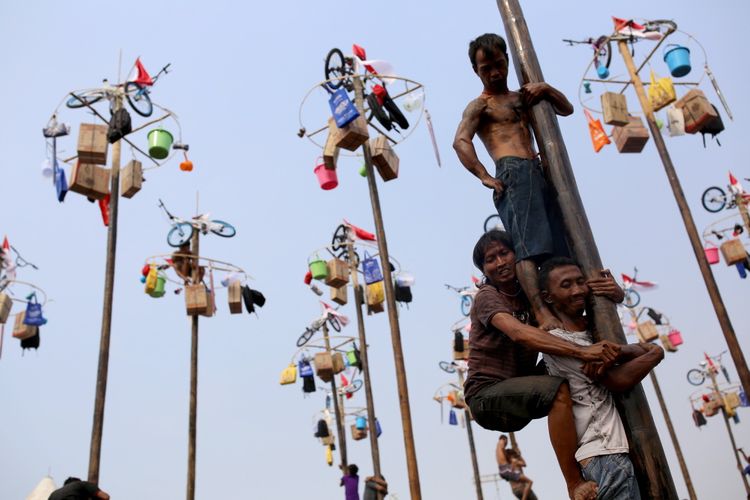
[[[640,500],[633,463],[627,453],[599,455],[581,468],[583,478],[599,486],[597,498]]]

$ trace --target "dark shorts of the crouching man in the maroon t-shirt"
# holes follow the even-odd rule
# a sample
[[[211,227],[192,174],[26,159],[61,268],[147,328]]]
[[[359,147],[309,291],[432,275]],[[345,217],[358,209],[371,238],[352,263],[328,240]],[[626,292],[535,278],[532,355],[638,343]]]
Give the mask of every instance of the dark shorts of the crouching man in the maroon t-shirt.
[[[555,401],[562,377],[535,375],[495,382],[471,397],[474,420],[492,431],[520,431],[534,419],[546,417]]]

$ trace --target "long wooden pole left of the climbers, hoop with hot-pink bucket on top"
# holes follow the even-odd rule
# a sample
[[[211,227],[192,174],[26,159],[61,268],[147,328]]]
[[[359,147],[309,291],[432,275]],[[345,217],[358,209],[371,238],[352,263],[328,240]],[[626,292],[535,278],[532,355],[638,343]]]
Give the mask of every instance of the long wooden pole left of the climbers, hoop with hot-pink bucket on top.
[[[361,115],[365,114],[364,88],[360,76],[354,76],[354,98]],[[398,388],[398,402],[401,409],[401,426],[404,432],[404,448],[406,451],[406,470],[409,474],[409,492],[412,500],[421,500],[422,490],[419,484],[419,469],[417,467],[417,450],[414,446],[414,430],[411,424],[411,409],[409,407],[409,387],[406,383],[406,366],[404,363],[404,351],[401,347],[401,328],[398,324],[398,312],[396,311],[396,295],[393,291],[393,278],[391,276],[391,262],[388,257],[388,243],[385,238],[385,226],[383,224],[383,213],[380,210],[380,197],[378,185],[375,180],[375,169],[372,166],[370,155],[370,143],[362,145],[365,157],[365,169],[367,170],[367,186],[370,190],[370,203],[372,204],[372,216],[375,219],[375,234],[378,238],[378,253],[383,265],[383,280],[385,285],[385,299],[388,303],[388,322],[391,326],[391,344],[393,344],[393,360],[396,365],[396,386]]]

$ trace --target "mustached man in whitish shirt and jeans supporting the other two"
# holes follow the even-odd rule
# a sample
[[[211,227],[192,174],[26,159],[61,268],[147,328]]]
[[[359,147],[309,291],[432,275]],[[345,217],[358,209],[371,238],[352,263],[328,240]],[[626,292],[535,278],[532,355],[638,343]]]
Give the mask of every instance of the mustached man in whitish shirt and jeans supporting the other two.
[[[539,271],[539,289],[562,324],[550,335],[581,347],[591,345],[584,316],[591,290],[578,265],[564,257],[547,260]],[[549,374],[566,378],[570,386],[578,436],[576,460],[583,477],[597,483],[597,499],[640,499],[625,428],[610,391],[624,392],[638,384],[664,358],[662,348],[650,343],[623,345],[615,364],[606,370],[572,357],[547,353],[543,357]]]

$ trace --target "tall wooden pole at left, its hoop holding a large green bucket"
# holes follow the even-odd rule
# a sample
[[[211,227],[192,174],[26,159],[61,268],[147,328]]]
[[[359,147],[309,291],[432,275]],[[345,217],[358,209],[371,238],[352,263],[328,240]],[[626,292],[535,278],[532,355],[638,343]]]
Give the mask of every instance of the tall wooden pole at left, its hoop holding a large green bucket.
[[[115,110],[118,110],[121,106],[122,97],[116,96],[113,107]],[[88,480],[92,483],[99,482],[102,434],[104,431],[104,402],[107,397],[109,339],[112,331],[112,302],[115,288],[115,256],[117,253],[117,214],[120,199],[121,143],[122,140],[118,140],[112,147],[112,168],[110,169],[109,227],[107,228],[107,262],[104,274],[104,304],[102,310],[102,330],[99,340],[99,366],[96,372],[94,422],[91,428],[91,448],[89,451]]]

